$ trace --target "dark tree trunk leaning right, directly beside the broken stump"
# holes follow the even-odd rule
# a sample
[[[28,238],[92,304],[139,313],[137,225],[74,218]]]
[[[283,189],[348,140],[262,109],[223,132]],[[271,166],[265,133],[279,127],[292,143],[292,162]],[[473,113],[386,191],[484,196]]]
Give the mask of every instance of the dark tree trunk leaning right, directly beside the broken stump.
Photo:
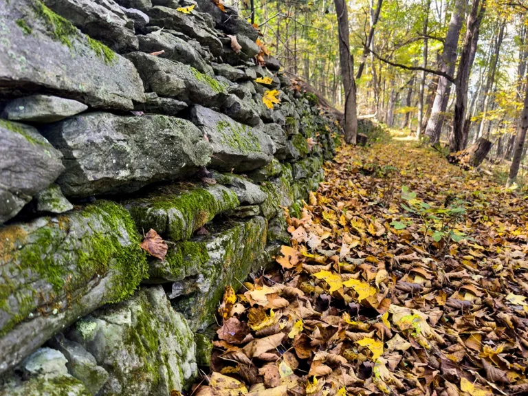
[[[480,3],[481,0],[473,0],[470,15],[467,17],[465,39],[458,72],[456,73],[456,102],[454,103],[453,138],[450,142],[451,152],[463,150],[465,143],[467,143],[467,136],[464,135],[467,86],[470,79],[471,66],[476,54],[478,33],[480,32],[481,21],[486,10],[486,0],[482,0],[481,5]]]

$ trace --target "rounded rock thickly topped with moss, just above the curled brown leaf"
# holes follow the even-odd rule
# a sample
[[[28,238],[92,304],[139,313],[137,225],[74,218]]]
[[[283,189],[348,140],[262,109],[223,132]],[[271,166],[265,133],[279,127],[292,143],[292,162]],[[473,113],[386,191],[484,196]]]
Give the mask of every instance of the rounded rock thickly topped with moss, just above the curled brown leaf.
[[[171,241],[189,239],[214,216],[239,206],[236,194],[219,184],[189,188],[173,184],[160,186],[144,197],[124,201],[138,230],[153,228]]]

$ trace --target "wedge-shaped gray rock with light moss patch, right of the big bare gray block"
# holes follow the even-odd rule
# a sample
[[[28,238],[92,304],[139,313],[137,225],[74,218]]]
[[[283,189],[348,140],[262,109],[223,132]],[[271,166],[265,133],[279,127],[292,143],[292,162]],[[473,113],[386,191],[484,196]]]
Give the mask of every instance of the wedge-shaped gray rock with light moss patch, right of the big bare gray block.
[[[275,146],[261,131],[199,105],[192,108],[191,118],[212,144],[212,167],[244,172],[272,160]]]

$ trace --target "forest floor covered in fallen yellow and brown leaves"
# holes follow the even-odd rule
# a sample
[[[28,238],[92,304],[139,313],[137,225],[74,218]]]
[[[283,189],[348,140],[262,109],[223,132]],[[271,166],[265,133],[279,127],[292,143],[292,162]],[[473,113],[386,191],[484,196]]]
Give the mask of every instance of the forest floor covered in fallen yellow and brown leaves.
[[[528,199],[414,142],[342,146],[199,396],[527,395]]]

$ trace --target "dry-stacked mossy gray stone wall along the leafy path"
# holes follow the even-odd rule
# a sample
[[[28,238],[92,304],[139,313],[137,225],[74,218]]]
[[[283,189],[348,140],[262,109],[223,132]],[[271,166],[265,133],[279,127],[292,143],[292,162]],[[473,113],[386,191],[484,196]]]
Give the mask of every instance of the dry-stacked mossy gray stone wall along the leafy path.
[[[0,395],[169,395],[208,364],[338,133],[258,36],[211,0],[0,0]]]

